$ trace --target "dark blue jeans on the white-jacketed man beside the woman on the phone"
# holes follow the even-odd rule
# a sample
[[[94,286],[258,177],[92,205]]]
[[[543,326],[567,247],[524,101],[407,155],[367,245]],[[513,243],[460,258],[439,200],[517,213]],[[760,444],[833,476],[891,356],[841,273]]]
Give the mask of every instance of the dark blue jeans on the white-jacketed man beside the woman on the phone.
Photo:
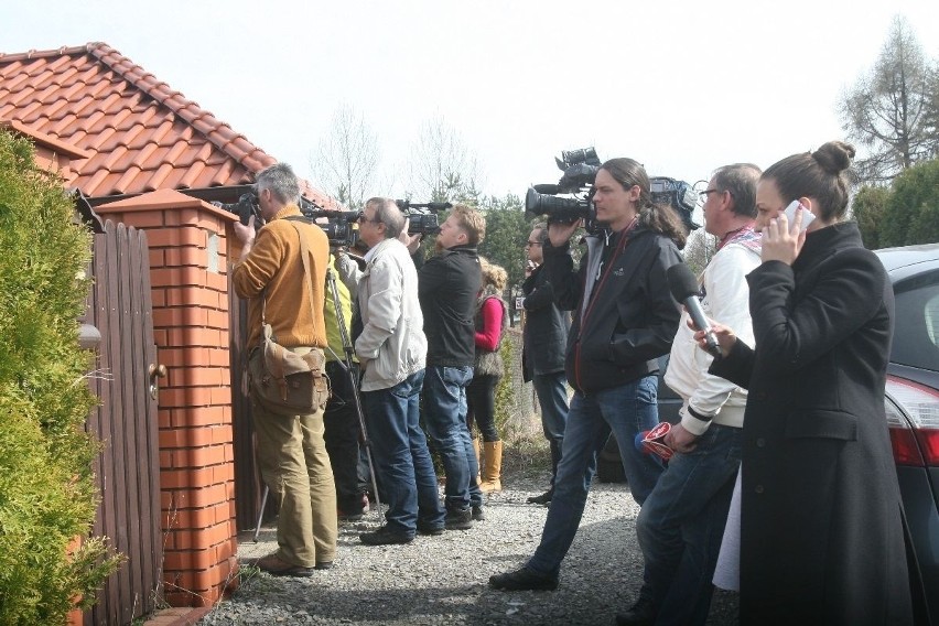
[[[639,595],[659,607],[656,624],[708,619],[742,431],[712,424],[691,453],[669,461],[639,511],[636,536],[645,557]]]

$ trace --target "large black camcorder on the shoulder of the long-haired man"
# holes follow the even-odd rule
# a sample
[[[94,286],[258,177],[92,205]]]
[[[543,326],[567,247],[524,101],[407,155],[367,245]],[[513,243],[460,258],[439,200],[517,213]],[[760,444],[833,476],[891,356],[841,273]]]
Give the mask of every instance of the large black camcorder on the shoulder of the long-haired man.
[[[597,158],[596,150],[568,150],[561,152],[560,159],[555,156],[554,162],[564,174],[557,185],[540,184],[529,187],[525,196],[526,215],[544,215],[548,222],[572,223],[583,219],[587,233],[598,231],[602,227],[596,222],[596,209],[592,199],[596,172],[603,163]],[[691,219],[697,201],[691,185],[667,176],[652,176],[649,182],[652,202],[672,207],[689,231],[700,227]]]

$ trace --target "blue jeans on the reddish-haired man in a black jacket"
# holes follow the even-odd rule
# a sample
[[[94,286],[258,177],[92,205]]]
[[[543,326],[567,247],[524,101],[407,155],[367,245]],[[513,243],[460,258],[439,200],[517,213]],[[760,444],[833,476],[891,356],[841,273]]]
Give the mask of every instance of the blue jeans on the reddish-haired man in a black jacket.
[[[476,484],[479,464],[466,428],[466,386],[472,367],[428,367],[424,378],[424,425],[446,473],[446,507],[465,510],[483,504]]]

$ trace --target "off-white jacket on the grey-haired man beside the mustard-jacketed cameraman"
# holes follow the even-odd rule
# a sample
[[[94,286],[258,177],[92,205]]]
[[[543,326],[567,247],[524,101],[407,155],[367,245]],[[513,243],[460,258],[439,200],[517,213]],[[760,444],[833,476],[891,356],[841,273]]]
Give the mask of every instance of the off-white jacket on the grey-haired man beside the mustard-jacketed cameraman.
[[[388,389],[424,368],[428,341],[418,302],[418,272],[398,239],[385,239],[365,256],[365,271],[347,256],[339,273],[358,287],[363,331],[355,342],[361,390]]]

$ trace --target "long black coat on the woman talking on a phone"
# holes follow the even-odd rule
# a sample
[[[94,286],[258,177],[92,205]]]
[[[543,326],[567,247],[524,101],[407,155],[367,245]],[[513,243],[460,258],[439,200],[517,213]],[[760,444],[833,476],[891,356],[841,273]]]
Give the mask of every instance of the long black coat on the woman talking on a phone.
[[[894,299],[854,224],[811,233],[790,268],[747,276],[756,350],[711,373],[749,389],[743,624],[910,624],[884,414]]]

